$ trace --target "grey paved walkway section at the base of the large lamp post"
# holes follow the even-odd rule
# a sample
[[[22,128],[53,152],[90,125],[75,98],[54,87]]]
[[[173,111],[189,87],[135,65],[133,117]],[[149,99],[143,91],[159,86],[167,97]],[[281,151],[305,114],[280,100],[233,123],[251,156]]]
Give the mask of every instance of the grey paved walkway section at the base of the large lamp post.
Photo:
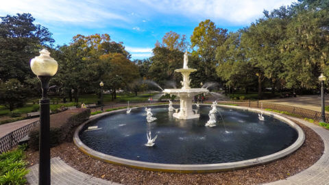
[[[27,181],[31,185],[38,184],[38,164],[29,168],[30,172],[27,174]],[[96,178],[67,165],[60,158],[51,159],[51,184],[58,185],[116,185],[117,183]],[[119,184],[118,184],[119,185]]]

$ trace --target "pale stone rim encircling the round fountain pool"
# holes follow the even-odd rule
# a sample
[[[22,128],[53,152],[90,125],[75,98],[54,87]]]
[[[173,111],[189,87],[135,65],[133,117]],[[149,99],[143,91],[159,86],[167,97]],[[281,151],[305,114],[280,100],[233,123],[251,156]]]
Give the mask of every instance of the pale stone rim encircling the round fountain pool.
[[[209,106],[207,104],[203,104],[205,106]],[[223,106],[223,105],[219,105]],[[248,110],[251,112],[260,112],[260,110],[256,110],[253,108],[245,108],[245,107],[236,107],[236,106],[223,106],[226,108],[234,108],[234,109],[243,109]],[[133,108],[134,109],[134,108]],[[286,149],[283,149],[281,151],[278,151],[276,153],[272,153],[268,156],[262,156],[260,158],[254,158],[249,160],[242,160],[238,162],[226,162],[226,163],[217,163],[217,164],[161,164],[161,163],[153,163],[153,162],[141,162],[136,160],[127,160],[124,158],[118,158],[114,156],[107,155],[105,153],[101,153],[99,151],[95,151],[93,149],[90,149],[87,147],[84,143],[82,143],[82,140],[79,138],[79,133],[84,127],[84,125],[90,123],[91,121],[96,121],[98,119],[101,119],[103,116],[107,116],[109,114],[113,114],[115,112],[122,112],[123,110],[114,110],[111,112],[105,112],[103,114],[99,114],[97,116],[94,116],[93,118],[89,119],[79,127],[77,127],[77,130],[75,130],[75,134],[73,136],[73,143],[84,153],[86,153],[88,156],[91,156],[93,158],[97,158],[99,160],[102,160],[104,162],[109,162],[112,164],[119,164],[124,165],[127,167],[132,167],[136,169],[144,169],[149,171],[168,171],[168,172],[175,172],[175,173],[210,173],[210,172],[216,172],[216,171],[229,171],[234,169],[241,169],[246,167],[252,167],[258,164],[264,164],[271,162],[273,160],[278,160],[280,158],[283,158],[284,156],[289,155],[290,153],[293,153],[296,151],[299,147],[302,146],[305,140],[305,134],[302,131],[302,129],[293,121],[290,119],[285,118],[284,116],[280,116],[278,114],[273,114],[272,112],[264,112],[264,114],[267,114],[269,116],[273,116],[276,119],[279,119],[281,121],[284,121],[288,125],[290,125],[296,132],[297,132],[297,140],[287,147]]]

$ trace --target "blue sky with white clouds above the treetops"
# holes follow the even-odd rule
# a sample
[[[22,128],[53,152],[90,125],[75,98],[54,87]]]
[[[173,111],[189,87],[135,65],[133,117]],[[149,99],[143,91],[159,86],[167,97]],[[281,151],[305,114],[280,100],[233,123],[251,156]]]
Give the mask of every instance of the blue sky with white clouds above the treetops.
[[[156,40],[173,31],[191,37],[201,21],[230,32],[263,17],[263,10],[296,0],[0,0],[0,16],[30,13],[47,27],[56,45],[82,34],[109,34],[123,42],[132,60],[152,56]]]

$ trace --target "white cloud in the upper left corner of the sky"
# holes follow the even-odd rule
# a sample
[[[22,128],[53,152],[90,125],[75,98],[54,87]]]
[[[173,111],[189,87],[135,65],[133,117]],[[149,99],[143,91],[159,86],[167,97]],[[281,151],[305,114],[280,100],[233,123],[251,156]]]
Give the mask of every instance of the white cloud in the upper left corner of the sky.
[[[66,0],[11,0],[3,1],[0,14],[29,12],[42,21],[59,21],[65,23],[94,23],[104,20],[128,21],[127,18],[104,8],[100,1],[66,1]]]

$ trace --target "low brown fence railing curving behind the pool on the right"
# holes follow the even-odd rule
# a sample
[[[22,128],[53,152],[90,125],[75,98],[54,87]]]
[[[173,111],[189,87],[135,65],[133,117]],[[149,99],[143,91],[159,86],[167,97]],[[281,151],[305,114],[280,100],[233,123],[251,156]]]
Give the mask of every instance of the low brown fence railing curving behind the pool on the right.
[[[292,114],[299,115],[303,118],[313,119],[315,121],[321,121],[321,112],[315,110],[309,110],[306,108],[298,108],[294,106],[286,106],[276,103],[267,103],[260,101],[219,101],[221,104],[236,104],[238,106],[245,106],[250,108],[269,108],[272,110],[280,110],[290,112]],[[325,114],[326,120],[329,119],[329,114]]]

